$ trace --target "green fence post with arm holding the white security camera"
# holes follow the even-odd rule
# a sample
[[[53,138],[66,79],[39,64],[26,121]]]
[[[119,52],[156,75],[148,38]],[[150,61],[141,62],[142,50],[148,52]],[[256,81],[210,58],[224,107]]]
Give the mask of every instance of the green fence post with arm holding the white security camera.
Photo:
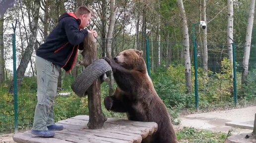
[[[194,37],[194,27],[195,25],[199,25],[200,22],[192,24],[192,32],[193,32],[193,54],[194,54],[194,102],[195,109],[198,111],[199,105],[199,97],[198,97],[198,83],[197,83],[197,52],[196,52],[196,42]]]

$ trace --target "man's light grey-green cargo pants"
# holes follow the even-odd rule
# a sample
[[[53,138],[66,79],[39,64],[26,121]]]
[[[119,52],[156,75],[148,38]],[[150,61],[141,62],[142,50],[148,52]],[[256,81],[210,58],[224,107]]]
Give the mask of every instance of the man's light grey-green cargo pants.
[[[47,131],[47,126],[54,124],[53,107],[57,95],[60,69],[61,67],[52,62],[36,56],[37,105],[33,130]]]

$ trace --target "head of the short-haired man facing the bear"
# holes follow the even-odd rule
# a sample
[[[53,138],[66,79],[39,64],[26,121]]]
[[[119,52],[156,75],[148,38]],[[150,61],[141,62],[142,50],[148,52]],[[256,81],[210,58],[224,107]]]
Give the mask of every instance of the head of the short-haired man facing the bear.
[[[83,29],[90,24],[91,11],[86,6],[80,6],[75,11],[75,16],[81,20],[80,28]]]

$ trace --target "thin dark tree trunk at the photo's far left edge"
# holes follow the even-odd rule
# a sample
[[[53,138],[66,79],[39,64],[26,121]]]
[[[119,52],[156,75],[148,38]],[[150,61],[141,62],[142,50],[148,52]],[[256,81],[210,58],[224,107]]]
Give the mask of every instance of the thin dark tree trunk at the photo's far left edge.
[[[4,81],[3,14],[0,15],[0,83]]]

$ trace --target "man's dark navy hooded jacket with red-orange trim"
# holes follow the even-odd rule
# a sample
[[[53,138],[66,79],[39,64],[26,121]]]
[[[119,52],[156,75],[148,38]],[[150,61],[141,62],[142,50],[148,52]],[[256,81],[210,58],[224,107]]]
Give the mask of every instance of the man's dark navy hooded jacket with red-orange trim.
[[[36,55],[69,72],[75,64],[78,49],[83,50],[83,40],[88,34],[85,29],[80,30],[80,23],[74,13],[64,13]]]

